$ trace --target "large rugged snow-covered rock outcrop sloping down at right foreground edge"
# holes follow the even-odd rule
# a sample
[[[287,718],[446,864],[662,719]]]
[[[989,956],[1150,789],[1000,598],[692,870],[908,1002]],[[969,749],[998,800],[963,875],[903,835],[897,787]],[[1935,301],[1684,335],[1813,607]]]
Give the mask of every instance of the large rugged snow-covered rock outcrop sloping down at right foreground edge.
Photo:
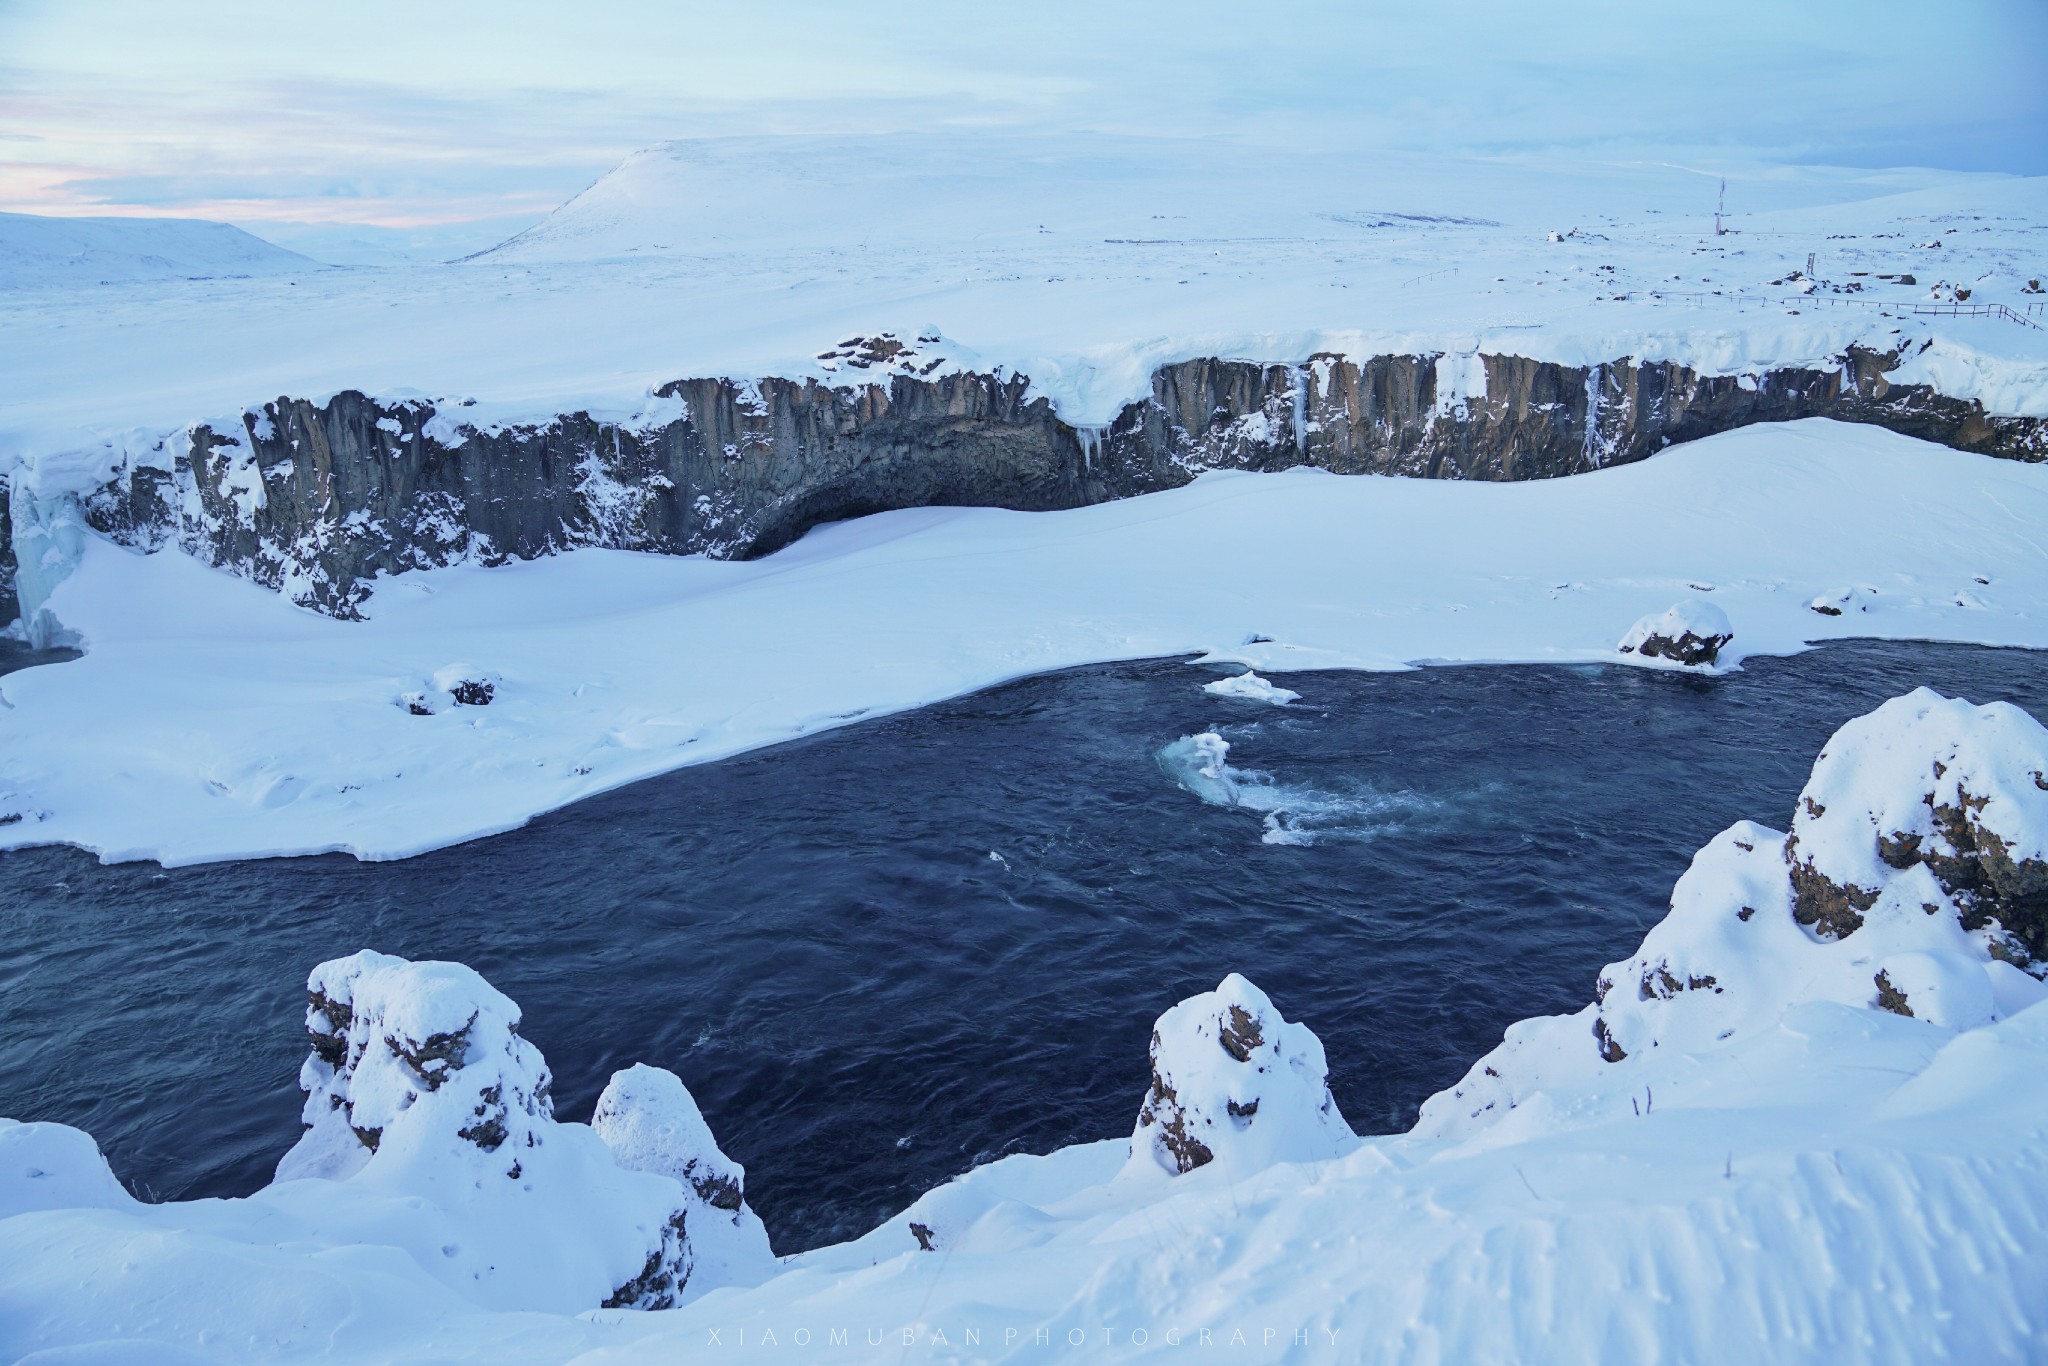
[[[1815,1004],[1974,1030],[2048,999],[2048,731],[1925,688],[1827,741],[1792,834],[1741,821],[1577,1016],[1524,1020],[1417,1135],[1497,1122],[1610,1063],[1696,1055]],[[2032,971],[2023,971],[2032,969]]]

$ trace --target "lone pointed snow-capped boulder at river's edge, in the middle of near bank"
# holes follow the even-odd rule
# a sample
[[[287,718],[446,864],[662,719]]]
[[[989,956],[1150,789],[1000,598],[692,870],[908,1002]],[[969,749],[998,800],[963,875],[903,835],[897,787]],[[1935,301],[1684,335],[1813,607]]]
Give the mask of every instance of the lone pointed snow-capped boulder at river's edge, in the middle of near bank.
[[[1130,1178],[1223,1163],[1243,1176],[1280,1161],[1321,1161],[1358,1139],[1329,1094],[1323,1042],[1280,1018],[1231,973],[1153,1026],[1151,1090],[1130,1135]]]

